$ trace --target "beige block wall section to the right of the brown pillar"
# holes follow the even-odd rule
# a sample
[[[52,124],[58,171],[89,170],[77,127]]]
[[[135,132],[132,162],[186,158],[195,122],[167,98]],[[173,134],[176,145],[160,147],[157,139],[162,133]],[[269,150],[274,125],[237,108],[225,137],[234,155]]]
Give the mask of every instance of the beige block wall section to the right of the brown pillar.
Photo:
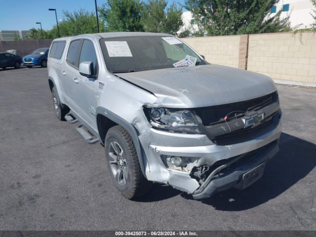
[[[316,34],[250,35],[247,69],[273,79],[316,83]]]

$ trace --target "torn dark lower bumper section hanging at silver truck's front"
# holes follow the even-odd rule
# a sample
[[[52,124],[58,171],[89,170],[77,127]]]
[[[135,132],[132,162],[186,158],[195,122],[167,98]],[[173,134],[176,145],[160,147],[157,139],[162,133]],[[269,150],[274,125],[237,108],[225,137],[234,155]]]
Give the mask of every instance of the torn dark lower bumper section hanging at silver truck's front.
[[[193,193],[193,197],[201,199],[230,188],[241,190],[247,188],[262,177],[266,162],[277,152],[276,140],[252,152],[216,162],[201,178],[193,174],[193,177],[197,178],[200,183],[200,187]]]

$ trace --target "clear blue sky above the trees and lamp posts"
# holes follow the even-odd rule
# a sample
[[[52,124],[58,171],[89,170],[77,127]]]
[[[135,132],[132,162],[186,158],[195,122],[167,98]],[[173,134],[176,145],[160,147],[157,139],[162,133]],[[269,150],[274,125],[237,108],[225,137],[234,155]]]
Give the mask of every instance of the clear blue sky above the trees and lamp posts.
[[[173,1],[183,3],[184,0],[168,0],[169,4]],[[106,0],[97,0],[101,6]],[[40,28],[36,22],[41,22],[43,30],[50,30],[56,25],[54,11],[57,10],[57,18],[63,18],[64,11],[76,11],[83,8],[95,12],[94,0],[0,0],[0,31],[2,30],[30,30]]]

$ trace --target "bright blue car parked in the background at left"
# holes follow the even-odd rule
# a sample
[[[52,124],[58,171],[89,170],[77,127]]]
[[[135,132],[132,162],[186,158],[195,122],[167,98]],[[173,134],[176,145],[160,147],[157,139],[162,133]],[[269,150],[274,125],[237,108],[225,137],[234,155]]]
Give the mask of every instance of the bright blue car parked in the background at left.
[[[28,68],[33,66],[41,66],[42,68],[47,67],[47,55],[49,48],[39,48],[32,54],[23,57],[23,65]]]

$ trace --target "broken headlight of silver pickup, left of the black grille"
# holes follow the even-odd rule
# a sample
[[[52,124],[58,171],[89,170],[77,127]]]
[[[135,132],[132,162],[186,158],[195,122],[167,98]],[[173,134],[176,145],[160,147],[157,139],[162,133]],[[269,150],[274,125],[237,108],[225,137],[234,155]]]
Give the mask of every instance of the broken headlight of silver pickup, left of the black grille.
[[[194,111],[144,107],[144,112],[155,128],[171,132],[203,134],[201,119]]]

